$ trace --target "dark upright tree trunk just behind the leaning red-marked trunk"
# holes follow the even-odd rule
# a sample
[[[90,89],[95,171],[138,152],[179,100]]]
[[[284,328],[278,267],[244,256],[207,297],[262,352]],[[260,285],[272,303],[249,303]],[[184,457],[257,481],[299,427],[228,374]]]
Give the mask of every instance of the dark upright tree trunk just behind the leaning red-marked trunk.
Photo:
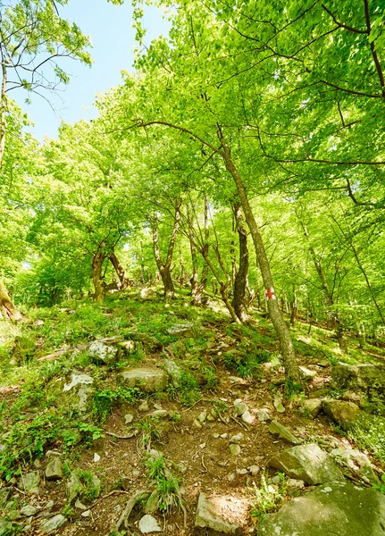
[[[248,275],[247,230],[243,223],[240,203],[233,205],[236,228],[239,236],[239,269],[234,278],[234,297],[232,306],[241,322],[247,322],[246,289]]]

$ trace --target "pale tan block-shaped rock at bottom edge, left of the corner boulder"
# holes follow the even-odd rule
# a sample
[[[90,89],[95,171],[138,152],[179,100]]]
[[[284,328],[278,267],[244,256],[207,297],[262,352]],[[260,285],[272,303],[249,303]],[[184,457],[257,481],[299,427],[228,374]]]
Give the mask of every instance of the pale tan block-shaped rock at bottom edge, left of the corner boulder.
[[[195,518],[195,533],[243,533],[248,518],[248,503],[243,498],[200,493]]]

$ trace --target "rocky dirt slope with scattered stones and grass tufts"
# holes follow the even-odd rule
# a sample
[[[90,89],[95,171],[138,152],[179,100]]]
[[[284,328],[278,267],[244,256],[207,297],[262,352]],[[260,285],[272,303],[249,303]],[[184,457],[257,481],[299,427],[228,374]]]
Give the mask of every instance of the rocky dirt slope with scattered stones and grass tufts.
[[[257,340],[220,314],[167,315],[161,337],[131,320],[50,353],[38,338],[27,366],[13,341],[0,534],[385,534],[381,349],[360,362],[298,330],[305,392],[288,398],[257,315]]]

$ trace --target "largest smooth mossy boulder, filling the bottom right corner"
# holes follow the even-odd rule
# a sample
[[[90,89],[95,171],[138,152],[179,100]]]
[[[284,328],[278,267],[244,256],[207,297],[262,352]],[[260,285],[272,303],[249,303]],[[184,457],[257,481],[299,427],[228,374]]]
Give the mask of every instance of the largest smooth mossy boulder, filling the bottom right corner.
[[[332,482],[266,515],[258,524],[258,536],[381,536],[384,524],[384,495]]]

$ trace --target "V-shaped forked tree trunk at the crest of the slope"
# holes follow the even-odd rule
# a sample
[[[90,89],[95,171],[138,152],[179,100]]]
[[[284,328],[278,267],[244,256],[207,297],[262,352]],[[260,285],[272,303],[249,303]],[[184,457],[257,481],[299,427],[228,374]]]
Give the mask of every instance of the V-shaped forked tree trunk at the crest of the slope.
[[[151,228],[153,230],[153,246],[154,246],[154,255],[156,266],[158,267],[159,273],[163,281],[164,287],[164,297],[166,300],[172,299],[175,297],[175,289],[172,281],[172,254],[174,251],[175,243],[178,237],[178,232],[180,229],[180,205],[181,200],[179,199],[175,205],[175,215],[174,215],[174,225],[172,229],[172,237],[169,242],[169,248],[167,251],[166,262],[163,263],[161,251],[159,248],[159,232],[156,219],[151,219]]]

